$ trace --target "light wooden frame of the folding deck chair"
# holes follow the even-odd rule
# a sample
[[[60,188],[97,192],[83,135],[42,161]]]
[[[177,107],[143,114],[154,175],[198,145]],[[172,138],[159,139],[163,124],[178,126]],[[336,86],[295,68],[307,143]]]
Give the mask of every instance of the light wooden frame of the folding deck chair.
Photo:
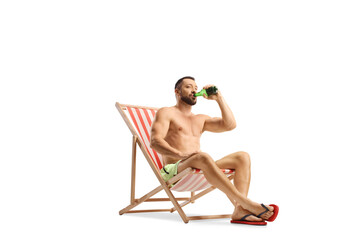
[[[122,215],[124,213],[140,213],[140,212],[174,212],[177,211],[181,217],[181,219],[184,221],[184,223],[188,223],[189,220],[201,220],[201,219],[217,219],[217,218],[231,218],[231,214],[223,214],[223,215],[205,215],[205,216],[187,216],[185,212],[183,211],[182,207],[186,206],[189,203],[194,203],[196,199],[204,196],[205,194],[213,191],[216,189],[216,187],[211,186],[206,188],[205,190],[202,190],[200,193],[195,194],[195,192],[191,192],[190,197],[188,198],[176,198],[172,191],[170,186],[174,183],[176,183],[178,180],[186,176],[187,174],[193,174],[193,169],[187,168],[181,173],[177,174],[173,178],[171,178],[169,181],[165,182],[164,179],[161,177],[157,167],[155,166],[154,162],[151,159],[151,156],[148,154],[148,152],[145,149],[144,143],[139,140],[139,136],[137,132],[135,131],[131,121],[126,116],[125,112],[127,110],[127,107],[134,107],[134,108],[143,108],[143,109],[153,109],[158,110],[158,108],[151,108],[151,107],[144,107],[144,106],[135,106],[135,105],[125,105],[116,103],[116,108],[120,112],[121,116],[123,117],[125,123],[129,127],[133,139],[132,139],[132,167],[131,167],[131,192],[130,192],[130,204],[119,211],[119,214]],[[135,198],[135,176],[136,176],[136,145],[138,145],[144,154],[147,162],[149,163],[151,169],[153,170],[155,176],[160,182],[160,186],[154,188],[149,193],[145,194],[141,198]],[[200,173],[201,174],[201,173]],[[233,174],[228,176],[229,180],[232,180],[234,177]],[[164,190],[168,196],[168,198],[152,198],[155,194],[160,192],[161,190]],[[173,208],[170,209],[147,209],[147,210],[131,210],[134,207],[138,206],[139,204],[143,202],[159,202],[159,201],[171,201],[174,205]],[[178,201],[184,201],[181,204]]]

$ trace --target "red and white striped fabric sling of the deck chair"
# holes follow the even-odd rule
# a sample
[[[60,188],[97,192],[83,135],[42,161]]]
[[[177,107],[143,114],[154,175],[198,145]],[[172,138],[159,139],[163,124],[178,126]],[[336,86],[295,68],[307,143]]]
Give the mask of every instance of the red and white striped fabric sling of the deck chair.
[[[151,160],[160,171],[163,167],[163,160],[160,154],[150,147],[150,132],[151,124],[154,120],[156,110],[136,107],[126,107],[125,114],[132,123],[139,140],[144,144],[146,151],[151,157]],[[230,169],[222,169],[225,175],[229,176],[234,173]],[[199,169],[194,169],[190,174],[180,179],[171,190],[178,192],[194,192],[211,187],[204,174]]]

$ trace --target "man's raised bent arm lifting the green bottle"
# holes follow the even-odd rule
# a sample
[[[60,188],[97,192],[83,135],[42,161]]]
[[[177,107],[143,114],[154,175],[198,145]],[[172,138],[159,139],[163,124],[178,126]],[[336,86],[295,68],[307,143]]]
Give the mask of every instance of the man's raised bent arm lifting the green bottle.
[[[221,110],[221,118],[207,117],[205,119],[203,131],[225,132],[233,130],[236,127],[235,117],[221,93],[218,92],[216,95],[211,95],[209,97],[205,96],[205,98],[216,100]]]

